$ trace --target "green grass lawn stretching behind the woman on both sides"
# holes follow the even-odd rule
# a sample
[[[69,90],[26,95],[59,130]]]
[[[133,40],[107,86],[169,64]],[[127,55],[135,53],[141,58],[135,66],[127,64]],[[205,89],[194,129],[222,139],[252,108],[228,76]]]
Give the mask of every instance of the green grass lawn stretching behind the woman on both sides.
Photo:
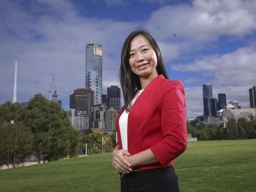
[[[110,153],[0,170],[0,191],[118,192]],[[181,192],[256,191],[256,140],[189,142],[175,161]]]

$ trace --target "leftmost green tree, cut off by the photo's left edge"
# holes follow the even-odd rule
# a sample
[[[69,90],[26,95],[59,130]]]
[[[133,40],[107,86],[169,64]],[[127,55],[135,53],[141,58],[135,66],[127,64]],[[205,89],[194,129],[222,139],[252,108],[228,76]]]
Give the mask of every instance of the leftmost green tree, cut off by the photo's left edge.
[[[27,109],[19,103],[0,105],[0,166],[13,167],[31,153],[32,134],[26,125]]]

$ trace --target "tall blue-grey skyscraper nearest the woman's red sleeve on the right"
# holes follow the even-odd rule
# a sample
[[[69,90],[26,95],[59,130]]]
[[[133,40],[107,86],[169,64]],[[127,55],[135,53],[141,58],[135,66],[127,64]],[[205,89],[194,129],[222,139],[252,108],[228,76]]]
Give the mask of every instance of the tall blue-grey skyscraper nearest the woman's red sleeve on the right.
[[[211,112],[210,99],[213,98],[213,88],[211,84],[203,85],[204,115],[209,116]]]

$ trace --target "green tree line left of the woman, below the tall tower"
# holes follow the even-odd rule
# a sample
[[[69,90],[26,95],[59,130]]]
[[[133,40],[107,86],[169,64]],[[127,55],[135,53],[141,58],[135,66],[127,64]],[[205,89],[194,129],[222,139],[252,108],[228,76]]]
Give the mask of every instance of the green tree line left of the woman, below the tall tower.
[[[102,146],[102,138],[105,140]],[[115,144],[115,133],[104,135],[98,130],[88,130],[81,135],[74,129],[67,112],[42,94],[30,99],[27,107],[6,102],[0,105],[0,167],[13,167],[34,155],[38,163],[77,157],[79,150],[88,154],[110,152]]]

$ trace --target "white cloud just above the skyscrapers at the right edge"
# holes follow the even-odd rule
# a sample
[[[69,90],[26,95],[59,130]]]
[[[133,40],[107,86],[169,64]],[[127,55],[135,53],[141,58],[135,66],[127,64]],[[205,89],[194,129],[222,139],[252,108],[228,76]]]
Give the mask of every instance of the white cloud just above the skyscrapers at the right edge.
[[[253,86],[255,83],[256,48],[243,47],[223,55],[210,55],[195,62],[172,65],[176,71],[202,71],[213,75],[220,86]]]

